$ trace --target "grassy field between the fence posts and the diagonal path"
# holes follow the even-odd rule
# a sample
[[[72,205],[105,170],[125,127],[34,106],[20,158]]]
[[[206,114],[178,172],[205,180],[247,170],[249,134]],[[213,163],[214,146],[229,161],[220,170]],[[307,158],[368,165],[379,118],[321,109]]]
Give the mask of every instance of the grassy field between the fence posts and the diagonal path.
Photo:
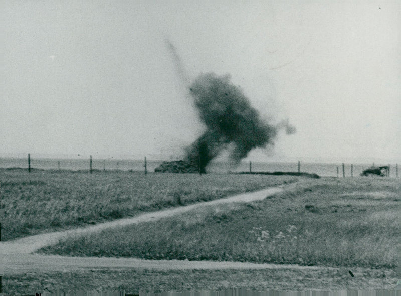
[[[2,241],[299,180],[291,176],[0,169]]]

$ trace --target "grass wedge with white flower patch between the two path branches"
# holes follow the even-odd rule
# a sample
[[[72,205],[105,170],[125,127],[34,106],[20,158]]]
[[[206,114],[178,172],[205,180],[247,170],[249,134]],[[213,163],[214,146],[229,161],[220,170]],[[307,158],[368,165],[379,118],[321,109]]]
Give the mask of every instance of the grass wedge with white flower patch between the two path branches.
[[[395,268],[399,180],[323,178],[293,187],[248,205],[205,207],[69,238],[42,252]]]

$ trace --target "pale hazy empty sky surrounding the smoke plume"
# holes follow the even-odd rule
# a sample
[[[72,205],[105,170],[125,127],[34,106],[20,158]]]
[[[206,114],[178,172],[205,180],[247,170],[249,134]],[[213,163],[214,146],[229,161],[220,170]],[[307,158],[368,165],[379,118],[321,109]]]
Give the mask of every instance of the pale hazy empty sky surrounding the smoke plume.
[[[0,156],[179,157],[204,126],[168,39],[297,128],[250,160],[401,161],[399,1],[5,1],[3,28]]]

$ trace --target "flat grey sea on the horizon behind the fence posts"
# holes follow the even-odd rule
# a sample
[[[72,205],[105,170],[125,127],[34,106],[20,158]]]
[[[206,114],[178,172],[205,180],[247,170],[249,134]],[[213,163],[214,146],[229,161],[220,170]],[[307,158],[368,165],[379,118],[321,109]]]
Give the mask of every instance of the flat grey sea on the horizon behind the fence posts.
[[[31,168],[44,169],[44,170],[58,170],[60,162],[61,170],[89,170],[89,159],[45,159],[45,158],[31,158]],[[154,172],[154,169],[159,166],[162,161],[148,160],[147,170],[148,172]],[[372,164],[353,164],[353,176],[359,176],[359,174]],[[375,164],[378,166],[384,166],[388,164]],[[104,166],[104,167],[103,167]],[[342,164],[341,163],[304,163],[301,162],[301,172],[315,173],[319,176],[336,177],[338,175],[342,177]],[[28,159],[22,158],[0,158],[0,168],[28,168]],[[95,170],[106,171],[121,170],[121,171],[144,171],[143,160],[116,160],[116,159],[93,159],[92,168]],[[249,162],[241,162],[239,166],[233,168],[229,163],[225,162],[213,162],[207,167],[207,172],[210,173],[227,173],[227,172],[241,172],[249,171]],[[297,172],[298,163],[280,163],[280,162],[252,162],[252,171],[258,172]],[[351,176],[351,164],[345,164],[345,176]],[[390,177],[395,177],[395,165],[391,166]]]

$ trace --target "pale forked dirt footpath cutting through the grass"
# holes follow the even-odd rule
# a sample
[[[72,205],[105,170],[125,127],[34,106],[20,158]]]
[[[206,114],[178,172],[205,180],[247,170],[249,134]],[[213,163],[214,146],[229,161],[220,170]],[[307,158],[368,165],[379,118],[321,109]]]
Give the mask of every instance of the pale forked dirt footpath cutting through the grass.
[[[140,268],[140,269],[327,269],[327,267],[255,264],[248,262],[216,262],[188,260],[144,260],[137,258],[99,258],[99,257],[68,257],[58,255],[33,254],[40,248],[56,244],[64,237],[82,235],[101,231],[103,229],[156,221],[164,217],[191,211],[199,207],[233,202],[252,202],[263,200],[268,196],[282,192],[283,186],[273,187],[257,192],[243,193],[209,202],[166,209],[124,218],[94,226],[33,235],[14,241],[0,243],[0,275],[22,274],[27,272],[60,272],[83,268]],[[333,268],[335,269],[335,268]]]

